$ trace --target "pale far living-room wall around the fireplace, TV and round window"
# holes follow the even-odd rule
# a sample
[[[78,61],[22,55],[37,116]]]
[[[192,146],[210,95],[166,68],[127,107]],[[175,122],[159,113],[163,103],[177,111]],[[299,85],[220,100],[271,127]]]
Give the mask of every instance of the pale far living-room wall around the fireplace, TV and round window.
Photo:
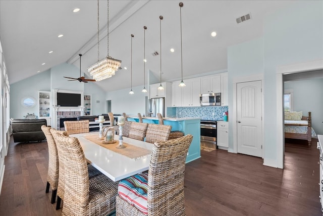
[[[81,73],[83,74],[83,73]],[[92,114],[100,115],[105,112],[105,92],[95,83],[80,83],[79,81],[67,81],[67,77],[79,77],[80,71],[71,64],[63,63],[51,69],[36,74],[25,80],[10,85],[10,118],[23,119],[27,113],[35,113],[38,116],[38,104],[32,108],[21,105],[21,99],[25,96],[38,98],[38,91],[51,91],[52,89],[64,89],[84,91],[92,95]],[[96,101],[99,100],[99,103]],[[37,101],[38,102],[38,101]]]

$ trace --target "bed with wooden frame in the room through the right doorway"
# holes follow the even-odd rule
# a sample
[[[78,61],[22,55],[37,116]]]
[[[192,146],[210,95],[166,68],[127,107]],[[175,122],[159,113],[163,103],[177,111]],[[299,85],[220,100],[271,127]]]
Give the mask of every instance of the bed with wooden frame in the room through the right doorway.
[[[302,112],[285,112],[285,138],[307,140],[311,145],[315,132],[311,127],[311,112],[302,116]]]

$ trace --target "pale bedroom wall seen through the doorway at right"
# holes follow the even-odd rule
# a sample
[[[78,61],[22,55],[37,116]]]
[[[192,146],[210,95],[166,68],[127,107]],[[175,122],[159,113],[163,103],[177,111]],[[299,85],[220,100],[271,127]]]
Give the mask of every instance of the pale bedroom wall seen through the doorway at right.
[[[316,134],[323,134],[323,78],[285,82],[285,89],[293,90],[294,111],[312,115],[312,128]]]

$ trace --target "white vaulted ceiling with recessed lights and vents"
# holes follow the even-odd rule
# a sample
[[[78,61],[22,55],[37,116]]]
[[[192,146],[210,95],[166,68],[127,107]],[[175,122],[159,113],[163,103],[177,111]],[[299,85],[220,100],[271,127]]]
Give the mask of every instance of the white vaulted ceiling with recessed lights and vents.
[[[182,1],[183,76],[194,77],[227,69],[228,46],[260,37],[263,18],[295,1]],[[130,89],[131,34],[133,38],[132,86],[143,85],[143,26],[146,30],[146,69],[159,80],[159,15],[161,21],[161,79],[181,79],[180,1],[110,0],[109,55],[122,61],[122,70],[96,82],[105,91]],[[100,1],[100,57],[106,57],[106,1]],[[78,13],[72,10],[80,8]],[[0,0],[0,38],[9,82],[68,62],[90,78],[87,67],[97,61],[97,1]],[[237,24],[250,13],[252,19]],[[212,31],[217,32],[211,37]],[[59,34],[64,34],[58,38]],[[175,52],[170,52],[174,48]],[[53,50],[49,54],[48,51]],[[46,63],[45,65],[41,65]],[[128,70],[125,70],[127,67]],[[75,74],[79,77],[79,74]],[[147,77],[147,74],[146,74]]]

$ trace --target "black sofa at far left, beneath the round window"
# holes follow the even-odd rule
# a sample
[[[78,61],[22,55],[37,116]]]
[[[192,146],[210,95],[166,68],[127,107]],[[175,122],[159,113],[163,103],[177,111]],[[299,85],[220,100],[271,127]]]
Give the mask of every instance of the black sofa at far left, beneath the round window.
[[[41,126],[47,126],[46,119],[12,119],[11,127],[14,142],[31,142],[45,140]]]

